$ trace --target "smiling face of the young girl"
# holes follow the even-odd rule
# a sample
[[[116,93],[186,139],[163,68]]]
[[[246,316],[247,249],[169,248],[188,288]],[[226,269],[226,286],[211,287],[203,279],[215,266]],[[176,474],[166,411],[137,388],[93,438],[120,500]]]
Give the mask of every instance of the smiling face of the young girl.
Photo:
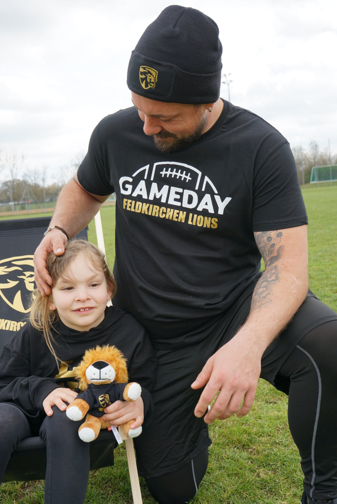
[[[51,289],[49,308],[57,310],[62,322],[70,329],[89,331],[104,319],[111,291],[104,273],[83,254],[69,265],[67,279],[59,278]]]

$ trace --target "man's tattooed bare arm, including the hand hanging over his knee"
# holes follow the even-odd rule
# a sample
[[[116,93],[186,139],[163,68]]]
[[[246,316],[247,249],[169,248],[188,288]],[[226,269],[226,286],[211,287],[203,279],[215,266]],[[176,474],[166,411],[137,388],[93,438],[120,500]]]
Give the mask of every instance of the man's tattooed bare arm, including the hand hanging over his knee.
[[[252,297],[245,324],[226,345],[213,354],[192,384],[205,386],[195,408],[205,422],[223,420],[252,407],[261,372],[261,357],[267,346],[285,328],[308,291],[307,226],[254,233],[265,263]]]

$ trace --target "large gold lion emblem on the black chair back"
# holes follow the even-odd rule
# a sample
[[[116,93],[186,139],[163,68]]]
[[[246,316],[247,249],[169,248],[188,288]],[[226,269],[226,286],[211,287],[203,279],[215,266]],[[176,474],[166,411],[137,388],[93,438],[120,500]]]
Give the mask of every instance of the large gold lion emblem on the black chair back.
[[[0,296],[5,303],[20,313],[28,313],[33,290],[33,256],[10,257],[0,261]]]

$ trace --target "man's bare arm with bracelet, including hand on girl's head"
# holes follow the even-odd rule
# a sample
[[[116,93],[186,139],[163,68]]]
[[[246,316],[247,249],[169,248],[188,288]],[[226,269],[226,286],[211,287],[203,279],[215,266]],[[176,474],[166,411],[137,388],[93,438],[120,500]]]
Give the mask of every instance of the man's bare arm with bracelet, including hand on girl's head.
[[[62,227],[72,238],[89,224],[108,197],[109,195],[97,196],[88,193],[75,175],[61,191],[49,225]],[[66,243],[66,235],[59,229],[52,229],[47,232],[35,250],[35,282],[42,296],[51,292],[52,279],[46,270],[48,254],[53,251],[56,256],[62,256]]]

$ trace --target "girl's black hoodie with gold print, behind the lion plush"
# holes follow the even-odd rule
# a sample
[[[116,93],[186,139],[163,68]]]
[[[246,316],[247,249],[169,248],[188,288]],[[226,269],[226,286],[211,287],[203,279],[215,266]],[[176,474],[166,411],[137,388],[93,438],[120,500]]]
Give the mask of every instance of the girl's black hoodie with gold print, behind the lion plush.
[[[157,360],[144,327],[129,313],[110,306],[103,321],[89,331],[75,331],[61,321],[54,325],[54,349],[62,361],[60,369],[43,334],[27,323],[5,344],[0,356],[0,402],[21,409],[32,428],[45,414],[42,402],[58,387],[75,390],[74,368],[85,350],[96,345],[115,345],[127,359],[129,381],[142,387],[144,417],[153,410],[151,390]]]

